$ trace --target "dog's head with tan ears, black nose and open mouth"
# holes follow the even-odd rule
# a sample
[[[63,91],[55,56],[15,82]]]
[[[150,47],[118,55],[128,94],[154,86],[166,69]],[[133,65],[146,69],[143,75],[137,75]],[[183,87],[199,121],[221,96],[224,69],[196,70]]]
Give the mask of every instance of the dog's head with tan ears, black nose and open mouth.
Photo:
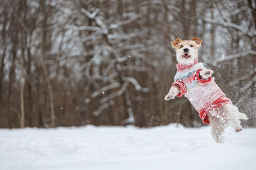
[[[198,49],[201,47],[199,38],[192,38],[191,40],[181,40],[177,38],[171,42],[172,47],[175,48],[176,58],[178,63],[191,64],[198,57]]]

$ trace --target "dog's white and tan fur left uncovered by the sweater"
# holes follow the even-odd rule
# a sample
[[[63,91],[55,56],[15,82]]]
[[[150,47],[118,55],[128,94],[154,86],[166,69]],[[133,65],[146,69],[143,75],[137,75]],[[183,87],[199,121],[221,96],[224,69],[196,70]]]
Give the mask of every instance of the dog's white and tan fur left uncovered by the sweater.
[[[176,51],[176,59],[178,63],[181,64],[191,64],[198,57],[198,48],[201,47],[201,42],[199,38],[192,38],[191,40],[181,40],[177,39],[171,42],[172,46]],[[182,46],[181,46],[182,45]],[[188,52],[184,52],[184,49],[187,48]],[[187,54],[189,57],[184,57]],[[213,71],[210,69],[203,69],[199,72],[201,79],[209,79],[212,76]],[[180,88],[178,85],[171,86],[169,93],[165,96],[165,100],[169,101],[170,98],[174,98],[180,93]],[[233,125],[235,128],[235,132],[240,132],[242,130],[242,126],[240,125],[240,119],[247,120],[247,116],[244,113],[240,113],[238,108],[226,104],[224,106],[220,106],[219,108],[215,108],[208,112],[211,132],[213,135],[213,139],[216,142],[223,142],[224,137],[222,136],[223,131],[228,125]]]

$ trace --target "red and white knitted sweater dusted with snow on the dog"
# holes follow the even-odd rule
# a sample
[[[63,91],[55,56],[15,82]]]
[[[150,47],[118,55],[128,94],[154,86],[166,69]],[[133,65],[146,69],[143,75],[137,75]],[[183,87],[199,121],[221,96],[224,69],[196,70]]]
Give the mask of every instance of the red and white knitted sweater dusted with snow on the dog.
[[[185,97],[191,102],[193,107],[198,111],[203,123],[210,124],[208,111],[218,108],[225,104],[232,104],[230,98],[227,98],[220,87],[215,83],[214,78],[201,79],[199,72],[203,63],[198,63],[198,58],[193,64],[177,64],[177,73],[174,77],[174,85],[178,85],[181,93],[178,97],[185,94]]]

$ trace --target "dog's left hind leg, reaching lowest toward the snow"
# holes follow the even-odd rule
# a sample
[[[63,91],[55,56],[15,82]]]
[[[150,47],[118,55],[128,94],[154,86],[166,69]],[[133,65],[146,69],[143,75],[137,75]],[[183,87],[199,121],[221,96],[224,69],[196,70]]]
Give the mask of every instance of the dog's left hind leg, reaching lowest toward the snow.
[[[224,142],[223,132],[225,130],[225,123],[220,121],[220,118],[217,117],[217,113],[215,109],[213,111],[209,111],[208,116],[210,120],[210,128],[213,139],[218,143]]]

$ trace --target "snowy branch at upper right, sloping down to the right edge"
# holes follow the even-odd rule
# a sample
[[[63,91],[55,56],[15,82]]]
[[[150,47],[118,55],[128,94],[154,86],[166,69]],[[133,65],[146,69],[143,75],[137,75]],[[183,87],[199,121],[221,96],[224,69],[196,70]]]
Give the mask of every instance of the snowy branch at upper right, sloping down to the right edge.
[[[223,21],[215,21],[215,20],[208,19],[208,18],[203,19],[203,21],[206,21],[206,23],[214,23],[218,26],[235,28],[237,30],[240,30],[242,34],[248,35],[250,37],[255,37],[256,36],[256,33],[250,33],[248,30],[245,30],[245,28],[242,28],[241,26],[238,26],[235,23],[226,23],[226,22],[223,22]]]

